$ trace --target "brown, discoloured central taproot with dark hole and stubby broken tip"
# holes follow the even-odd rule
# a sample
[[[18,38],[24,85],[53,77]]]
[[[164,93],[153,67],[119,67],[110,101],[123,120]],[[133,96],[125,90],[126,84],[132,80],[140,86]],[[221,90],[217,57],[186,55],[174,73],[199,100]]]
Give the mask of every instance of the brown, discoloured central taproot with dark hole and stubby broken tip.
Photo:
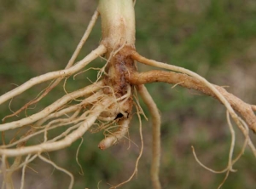
[[[100,142],[99,148],[102,150],[121,140],[129,129],[133,106],[133,85],[127,79],[127,75],[137,72],[135,60],[130,55],[132,51],[134,51],[132,47],[125,46],[113,55],[107,53],[107,58],[110,60],[105,69],[107,74],[104,76],[104,85],[106,87],[103,88],[103,93],[114,94],[117,103],[113,103],[113,107],[110,107],[108,112],[103,112],[102,116],[115,117],[114,120],[119,125],[119,129]]]

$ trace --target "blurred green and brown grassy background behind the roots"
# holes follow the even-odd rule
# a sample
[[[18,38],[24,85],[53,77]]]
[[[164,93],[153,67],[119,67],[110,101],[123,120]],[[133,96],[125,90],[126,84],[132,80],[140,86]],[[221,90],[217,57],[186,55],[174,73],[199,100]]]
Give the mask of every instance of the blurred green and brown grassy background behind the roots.
[[[63,69],[79,43],[96,1],[89,0],[9,0],[0,2],[0,94],[31,77]],[[137,0],[137,51],[149,59],[183,66],[210,82],[229,86],[228,90],[248,103],[256,104],[256,1],[255,0]],[[78,60],[95,49],[101,40],[100,20],[90,34]],[[90,66],[100,67],[97,59]],[[139,66],[140,71],[153,69]],[[67,91],[73,91],[96,78],[96,71],[70,78]],[[17,110],[44,89],[43,84],[16,97]],[[195,162],[198,157],[212,169],[224,169],[230,149],[230,132],[225,109],[217,100],[165,83],[147,85],[161,112],[162,154],[160,180],[163,188],[217,188],[223,174],[212,174]],[[64,94],[62,86],[38,104],[40,110]],[[9,103],[0,107],[1,119],[11,113]],[[148,115],[146,107],[143,109]],[[30,114],[32,111],[28,110]],[[24,114],[20,114],[20,117]],[[236,151],[243,136],[237,131]],[[131,140],[140,146],[137,117],[131,124]],[[84,175],[79,175],[75,154],[80,141],[68,149],[44,154],[75,176],[74,188],[108,188],[128,179],[139,149],[125,140],[106,151],[97,144],[102,132],[86,133],[79,151]],[[256,144],[256,135],[252,135]],[[150,188],[151,125],[143,119],[144,152],[137,175],[121,188]],[[247,148],[225,181],[223,188],[253,189],[256,166]],[[20,173],[15,175],[19,185]],[[1,180],[1,178],[0,178]],[[42,161],[29,164],[28,189],[67,188],[67,175]]]

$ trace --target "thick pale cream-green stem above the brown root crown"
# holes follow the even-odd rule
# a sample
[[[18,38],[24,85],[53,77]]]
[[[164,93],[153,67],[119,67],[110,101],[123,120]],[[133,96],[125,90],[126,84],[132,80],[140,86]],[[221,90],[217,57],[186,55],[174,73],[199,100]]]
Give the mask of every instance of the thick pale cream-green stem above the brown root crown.
[[[135,14],[132,0],[100,0],[98,11],[102,18],[102,43],[107,43],[112,49],[118,44],[134,47]]]

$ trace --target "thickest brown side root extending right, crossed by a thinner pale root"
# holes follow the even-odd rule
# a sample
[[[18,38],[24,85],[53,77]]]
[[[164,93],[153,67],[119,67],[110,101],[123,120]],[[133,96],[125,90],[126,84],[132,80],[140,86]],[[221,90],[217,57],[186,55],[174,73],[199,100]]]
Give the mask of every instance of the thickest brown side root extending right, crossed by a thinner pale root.
[[[204,83],[198,78],[190,77],[186,74],[177,72],[165,72],[165,71],[149,71],[149,72],[133,72],[129,76],[129,81],[133,84],[155,83],[164,82],[170,84],[177,84],[184,88],[195,89],[203,94],[211,95],[218,99],[218,96],[212,92]],[[237,112],[245,119],[250,129],[256,132],[256,116],[253,112],[253,105],[249,105],[235,95],[227,92],[223,87],[212,84],[212,86],[218,90],[220,94],[230,103]],[[219,99],[218,99],[219,100]]]

